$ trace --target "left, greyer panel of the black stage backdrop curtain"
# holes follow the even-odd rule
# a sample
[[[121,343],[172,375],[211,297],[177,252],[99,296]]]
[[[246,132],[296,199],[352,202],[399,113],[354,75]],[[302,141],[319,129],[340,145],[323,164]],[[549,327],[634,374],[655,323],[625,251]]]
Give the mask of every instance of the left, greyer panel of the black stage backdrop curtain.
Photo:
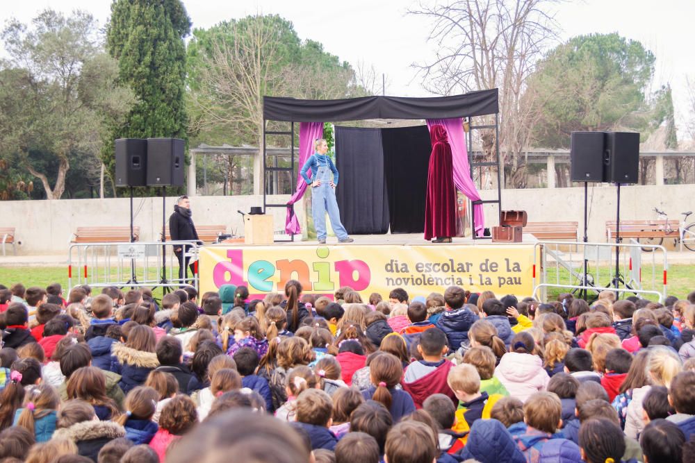
[[[384,181],[381,131],[336,126],[336,167],[340,174],[336,198],[347,233],[388,232],[389,200]],[[423,195],[424,192],[423,189]]]

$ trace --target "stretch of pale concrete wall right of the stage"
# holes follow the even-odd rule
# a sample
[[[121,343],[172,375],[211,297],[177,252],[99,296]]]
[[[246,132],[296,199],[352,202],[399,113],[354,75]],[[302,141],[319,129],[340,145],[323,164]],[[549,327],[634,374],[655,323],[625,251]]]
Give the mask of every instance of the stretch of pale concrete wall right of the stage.
[[[496,192],[483,190],[482,199],[495,199]],[[616,219],[616,187],[589,184],[589,241],[605,242],[605,223]],[[695,185],[637,185],[621,187],[621,220],[656,219],[659,208],[669,219],[682,219],[681,212],[695,212]],[[584,226],[584,188],[502,190],[503,210],[525,210],[528,220],[578,221],[580,239]],[[486,224],[496,225],[497,208],[485,206]],[[695,215],[689,217],[695,221]],[[664,243],[667,244],[667,243]],[[669,243],[670,244],[670,243]]]

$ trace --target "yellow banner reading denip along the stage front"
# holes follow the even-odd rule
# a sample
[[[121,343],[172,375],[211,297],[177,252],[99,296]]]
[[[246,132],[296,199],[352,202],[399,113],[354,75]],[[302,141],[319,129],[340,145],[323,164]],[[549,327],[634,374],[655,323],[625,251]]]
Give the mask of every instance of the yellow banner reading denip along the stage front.
[[[205,246],[200,250],[201,292],[246,285],[251,294],[283,292],[299,280],[304,292],[332,294],[350,286],[363,298],[387,298],[391,289],[427,296],[457,285],[503,296],[533,292],[532,244],[397,246]]]

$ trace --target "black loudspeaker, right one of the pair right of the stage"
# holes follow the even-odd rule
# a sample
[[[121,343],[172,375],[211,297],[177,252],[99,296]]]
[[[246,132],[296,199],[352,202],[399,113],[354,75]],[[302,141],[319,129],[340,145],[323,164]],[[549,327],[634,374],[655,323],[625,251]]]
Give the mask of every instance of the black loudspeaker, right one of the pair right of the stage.
[[[639,176],[639,133],[607,132],[608,153],[605,180],[611,183],[637,183]]]

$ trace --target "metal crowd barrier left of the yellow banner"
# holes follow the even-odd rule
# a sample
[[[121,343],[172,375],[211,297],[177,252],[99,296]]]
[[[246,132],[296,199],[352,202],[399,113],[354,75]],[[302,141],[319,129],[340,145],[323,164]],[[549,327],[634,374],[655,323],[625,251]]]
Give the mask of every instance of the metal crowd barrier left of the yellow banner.
[[[187,278],[179,278],[174,249],[186,246]],[[199,242],[73,243],[68,249],[67,285],[91,287],[198,287]]]

